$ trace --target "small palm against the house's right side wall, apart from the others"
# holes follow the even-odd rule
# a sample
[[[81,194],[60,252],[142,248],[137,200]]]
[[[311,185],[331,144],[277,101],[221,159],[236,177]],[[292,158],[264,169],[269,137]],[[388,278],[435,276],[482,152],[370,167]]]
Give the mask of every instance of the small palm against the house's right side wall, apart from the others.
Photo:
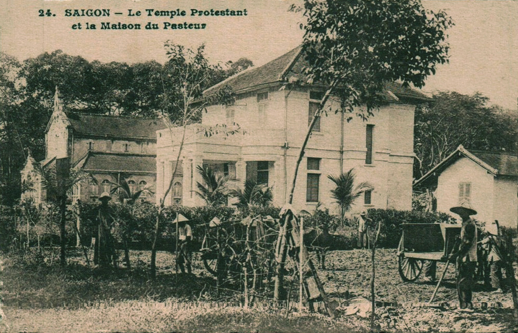
[[[347,172],[342,173],[340,176],[328,175],[331,181],[333,181],[336,187],[331,190],[331,197],[336,199],[336,203],[340,206],[340,220],[343,221],[346,212],[351,210],[354,200],[356,200],[365,191],[371,190],[373,187],[368,182],[362,182],[354,186],[355,178],[351,169]]]

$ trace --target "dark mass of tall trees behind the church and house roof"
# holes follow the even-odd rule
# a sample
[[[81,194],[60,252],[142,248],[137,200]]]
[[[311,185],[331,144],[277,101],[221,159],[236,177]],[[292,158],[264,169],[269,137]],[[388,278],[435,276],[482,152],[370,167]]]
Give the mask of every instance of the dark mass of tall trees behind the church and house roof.
[[[249,66],[253,63],[246,58],[206,66],[210,80],[200,82],[199,89]],[[167,114],[176,122],[181,114],[172,101],[183,100],[176,68],[153,60],[131,65],[89,62],[61,50],[23,62],[0,53],[0,203],[12,204],[20,197],[20,170],[28,151],[36,161],[45,158],[45,129],[56,86],[65,111],[137,117]]]

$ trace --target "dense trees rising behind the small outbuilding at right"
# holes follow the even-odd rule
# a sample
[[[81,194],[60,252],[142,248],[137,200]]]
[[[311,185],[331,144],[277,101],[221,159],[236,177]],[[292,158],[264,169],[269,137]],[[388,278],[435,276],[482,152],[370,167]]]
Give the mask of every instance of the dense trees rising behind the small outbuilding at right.
[[[459,144],[474,150],[516,151],[516,113],[487,106],[488,102],[480,93],[439,92],[433,102],[416,108],[415,178],[421,178]]]

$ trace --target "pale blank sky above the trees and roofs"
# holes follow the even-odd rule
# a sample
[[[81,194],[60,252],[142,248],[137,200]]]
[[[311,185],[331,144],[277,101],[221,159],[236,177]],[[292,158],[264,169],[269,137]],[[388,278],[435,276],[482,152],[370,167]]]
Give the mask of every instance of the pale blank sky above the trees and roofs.
[[[301,43],[300,13],[287,11],[299,0],[0,0],[0,51],[20,61],[61,49],[89,61],[167,60],[164,42],[196,48],[206,45],[212,62],[247,57],[256,66]],[[481,92],[492,104],[516,110],[518,97],[518,1],[428,0],[427,9],[443,9],[455,26],[449,29],[450,62],[439,65],[425,92]],[[65,9],[109,9],[110,17],[66,17]],[[192,17],[191,9],[244,10],[241,17]],[[51,15],[39,17],[39,10]],[[140,16],[129,17],[140,10]],[[185,10],[185,16],[148,16],[146,9]],[[123,15],[114,15],[122,12]],[[97,30],[85,29],[85,23]],[[100,22],[140,23],[142,30],[100,30]],[[158,30],[145,30],[148,22]],[[204,30],[164,30],[164,23],[205,23]],[[73,25],[81,23],[81,29]]]

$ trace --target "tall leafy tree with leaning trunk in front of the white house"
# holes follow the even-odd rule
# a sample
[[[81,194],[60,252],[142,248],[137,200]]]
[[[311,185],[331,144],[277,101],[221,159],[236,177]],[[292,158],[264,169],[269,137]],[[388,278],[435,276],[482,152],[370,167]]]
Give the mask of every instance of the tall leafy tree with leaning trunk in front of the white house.
[[[326,91],[300,146],[289,204],[306,145],[322,114],[343,112],[348,121],[354,114],[365,120],[384,103],[387,82],[400,80],[421,88],[437,64],[448,61],[445,30],[452,25],[445,12],[426,11],[419,0],[304,0],[303,8],[291,9],[304,11],[302,52],[309,64],[304,77],[293,83],[319,84]],[[326,106],[330,96],[339,100],[339,108]],[[283,237],[279,234],[279,243]],[[279,264],[276,299],[282,291],[282,271]]]

